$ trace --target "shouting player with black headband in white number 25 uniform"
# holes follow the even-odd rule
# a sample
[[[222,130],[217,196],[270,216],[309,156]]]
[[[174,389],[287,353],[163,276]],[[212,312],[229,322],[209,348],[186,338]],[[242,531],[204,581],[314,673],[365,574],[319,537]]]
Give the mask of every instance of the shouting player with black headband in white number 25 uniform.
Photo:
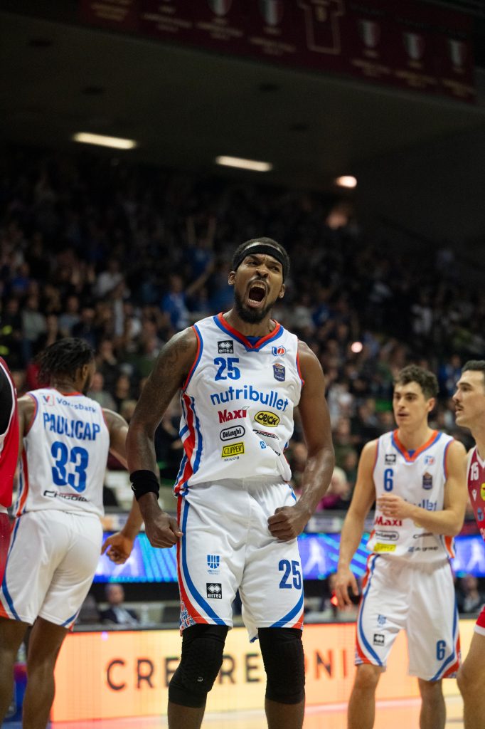
[[[178,543],[183,637],[169,687],[170,729],[201,725],[237,589],[249,635],[261,645],[268,726],[299,729],[303,722],[296,537],[328,488],[334,453],[320,363],[270,319],[288,266],[272,239],[243,243],[229,273],[234,307],[167,343],[130,422],[128,464],[146,534],[154,547]],[[158,506],[154,432],[178,389],[185,453],[177,520]],[[309,453],[299,502],[283,453],[297,405]]]

